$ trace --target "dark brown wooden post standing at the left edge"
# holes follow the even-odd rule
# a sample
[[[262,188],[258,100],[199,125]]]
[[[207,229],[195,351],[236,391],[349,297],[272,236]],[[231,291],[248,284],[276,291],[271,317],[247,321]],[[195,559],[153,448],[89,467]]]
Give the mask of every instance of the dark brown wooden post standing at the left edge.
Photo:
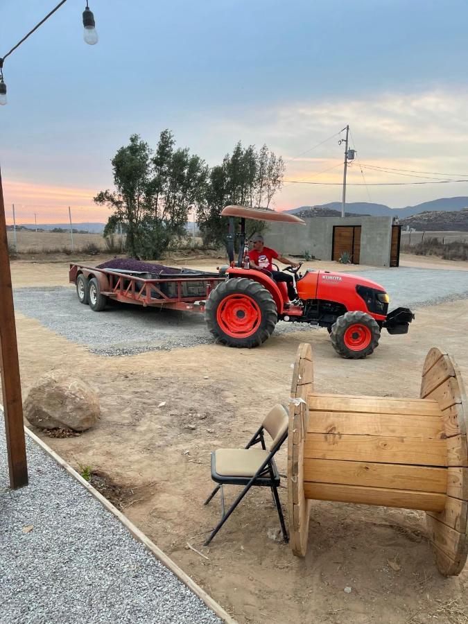
[[[0,171],[0,368],[10,487],[28,485],[15,309]]]

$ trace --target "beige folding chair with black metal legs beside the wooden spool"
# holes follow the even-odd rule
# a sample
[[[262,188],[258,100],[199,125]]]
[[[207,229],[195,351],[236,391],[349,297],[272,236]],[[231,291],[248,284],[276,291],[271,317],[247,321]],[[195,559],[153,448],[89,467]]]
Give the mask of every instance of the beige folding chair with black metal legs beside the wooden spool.
[[[284,524],[281,503],[279,502],[278,487],[279,473],[274,460],[275,453],[288,437],[288,408],[277,404],[263,420],[260,428],[245,449],[218,449],[211,453],[211,478],[218,483],[208,496],[205,505],[211,501],[218,490],[221,490],[221,519],[211,535],[205,541],[205,546],[214,538],[237,505],[253,485],[268,486],[271,488],[273,500],[278,511],[279,523],[283,532],[284,541],[288,542],[288,533]],[[266,449],[263,431],[267,431],[272,438],[270,449]],[[255,444],[261,444],[261,449],[253,449]],[[237,496],[232,506],[225,512],[223,485],[245,485],[241,494]]]

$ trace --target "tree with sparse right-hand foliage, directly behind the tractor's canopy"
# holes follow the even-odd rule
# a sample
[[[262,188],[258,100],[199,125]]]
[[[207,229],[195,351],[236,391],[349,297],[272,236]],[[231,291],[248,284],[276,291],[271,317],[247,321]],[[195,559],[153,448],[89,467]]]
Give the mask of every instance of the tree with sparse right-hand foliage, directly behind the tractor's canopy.
[[[198,227],[207,245],[222,245],[227,233],[227,219],[220,215],[226,205],[268,208],[283,183],[284,162],[263,145],[243,148],[236,144],[232,155],[225,155],[223,164],[211,169],[205,203],[198,211]],[[248,220],[247,232],[261,231],[263,221]]]

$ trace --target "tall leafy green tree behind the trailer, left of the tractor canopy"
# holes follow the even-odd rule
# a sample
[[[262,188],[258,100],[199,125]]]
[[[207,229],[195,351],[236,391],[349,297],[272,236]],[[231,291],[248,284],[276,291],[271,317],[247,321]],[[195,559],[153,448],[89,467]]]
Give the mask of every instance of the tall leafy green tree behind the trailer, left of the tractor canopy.
[[[175,149],[170,130],[163,130],[153,153],[138,135],[112,159],[116,191],[101,191],[94,201],[114,210],[104,235],[119,223],[127,232],[127,252],[158,259],[185,234],[189,209],[205,198],[208,167],[188,148]]]

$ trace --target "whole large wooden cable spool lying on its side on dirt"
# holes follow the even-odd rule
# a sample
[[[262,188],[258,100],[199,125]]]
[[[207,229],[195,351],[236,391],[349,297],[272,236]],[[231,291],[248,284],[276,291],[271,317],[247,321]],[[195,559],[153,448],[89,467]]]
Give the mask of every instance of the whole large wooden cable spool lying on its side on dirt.
[[[460,370],[437,347],[424,361],[419,399],[313,391],[311,345],[297,351],[288,433],[290,544],[304,557],[311,500],[426,512],[444,575],[467,560],[467,397]]]

